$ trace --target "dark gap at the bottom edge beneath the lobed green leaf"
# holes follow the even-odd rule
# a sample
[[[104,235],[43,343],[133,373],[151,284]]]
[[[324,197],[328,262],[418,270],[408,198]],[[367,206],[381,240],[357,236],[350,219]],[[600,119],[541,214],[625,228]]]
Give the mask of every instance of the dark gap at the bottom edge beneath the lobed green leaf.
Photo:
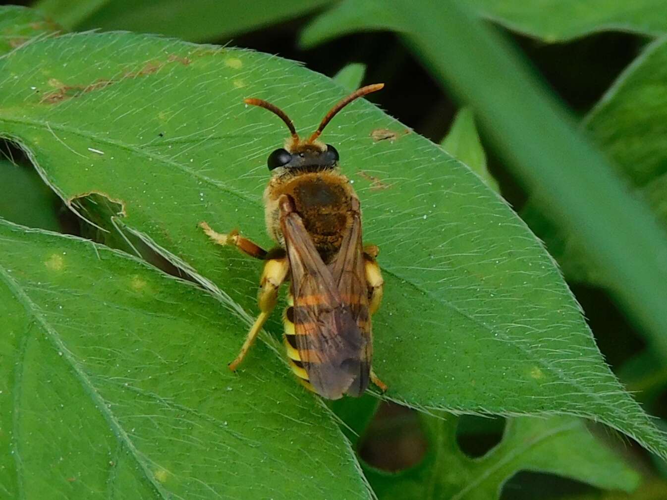
[[[552,500],[573,495],[593,495],[598,491],[595,487],[568,477],[520,471],[505,483],[500,500]]]

